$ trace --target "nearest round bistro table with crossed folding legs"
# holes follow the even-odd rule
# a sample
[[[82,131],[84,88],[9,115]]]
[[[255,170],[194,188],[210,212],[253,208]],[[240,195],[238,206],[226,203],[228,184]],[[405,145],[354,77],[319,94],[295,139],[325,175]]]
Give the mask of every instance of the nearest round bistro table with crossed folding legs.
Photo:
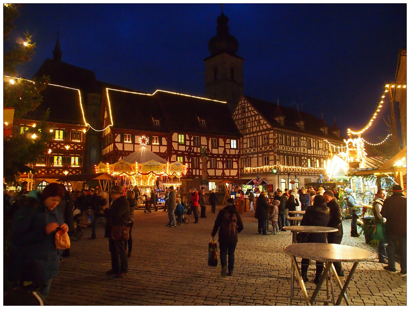
[[[305,297],[305,301],[308,305],[313,304],[313,302],[329,302],[328,300],[316,300],[316,296],[319,293],[319,290],[326,279],[326,277],[333,274],[336,279],[337,286],[339,286],[340,294],[333,304],[339,305],[342,302],[342,298],[347,305],[350,305],[349,300],[346,295],[347,287],[353,277],[353,274],[358,266],[359,262],[370,261],[376,257],[376,253],[371,252],[369,250],[351,247],[348,245],[338,245],[335,243],[295,243],[292,245],[287,245],[283,248],[287,254],[290,255],[292,259],[292,274],[293,271],[296,270],[296,275],[299,280],[299,284],[301,285],[301,289],[303,291],[303,296]],[[314,289],[312,297],[309,298],[307,295],[307,290],[305,283],[303,282],[301,270],[299,268],[298,263],[296,262],[296,257],[301,257],[302,259],[310,259],[313,261],[319,261],[325,263],[325,269],[319,279],[319,283]],[[346,282],[342,286],[342,282],[340,282],[339,276],[335,270],[335,266],[333,265],[334,262],[344,262],[344,263],[353,263],[353,266],[347,276]],[[293,279],[293,278],[292,278]],[[291,280],[293,284],[293,280]],[[292,287],[291,287],[292,289]],[[292,289],[293,291],[293,289]],[[332,289],[333,294],[333,289]],[[292,298],[293,295],[291,295]],[[291,299],[292,302],[292,299]]]

